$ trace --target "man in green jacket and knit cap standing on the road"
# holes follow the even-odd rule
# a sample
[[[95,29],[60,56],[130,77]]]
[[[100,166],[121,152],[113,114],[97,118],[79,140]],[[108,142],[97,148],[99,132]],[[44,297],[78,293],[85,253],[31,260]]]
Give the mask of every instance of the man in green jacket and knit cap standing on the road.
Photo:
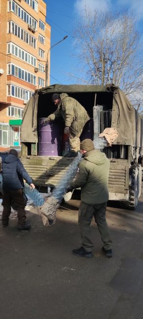
[[[106,206],[109,199],[108,176],[110,162],[100,150],[94,149],[94,142],[85,139],[80,143],[83,160],[78,165],[78,173],[71,183],[71,188],[81,187],[81,203],[78,213],[82,246],[73,249],[77,256],[92,257],[93,242],[90,234],[90,224],[94,216],[98,231],[103,241],[102,251],[106,257],[112,257],[111,244],[107,222]]]

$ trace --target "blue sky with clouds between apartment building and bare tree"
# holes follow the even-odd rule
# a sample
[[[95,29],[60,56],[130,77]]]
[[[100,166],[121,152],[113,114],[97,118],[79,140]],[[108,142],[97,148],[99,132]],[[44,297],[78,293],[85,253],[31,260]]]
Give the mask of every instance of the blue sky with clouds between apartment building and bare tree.
[[[66,40],[50,51],[50,84],[77,82],[69,76],[70,73],[76,74],[72,33],[85,1],[88,6],[98,10],[118,10],[121,7],[132,9],[138,16],[139,30],[143,31],[143,0],[45,0],[47,23],[51,26],[51,46],[68,35]]]

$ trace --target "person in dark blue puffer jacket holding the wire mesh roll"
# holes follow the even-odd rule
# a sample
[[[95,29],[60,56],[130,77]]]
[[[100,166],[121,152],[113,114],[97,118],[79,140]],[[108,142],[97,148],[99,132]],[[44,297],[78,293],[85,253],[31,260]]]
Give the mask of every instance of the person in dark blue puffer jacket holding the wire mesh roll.
[[[21,230],[28,230],[30,225],[26,223],[25,215],[25,199],[24,199],[24,180],[32,188],[35,188],[31,177],[28,175],[20,159],[18,159],[18,152],[14,149],[9,151],[9,155],[5,158],[2,164],[2,225],[8,226],[9,216],[11,213],[12,201],[17,206],[18,211],[18,228]]]

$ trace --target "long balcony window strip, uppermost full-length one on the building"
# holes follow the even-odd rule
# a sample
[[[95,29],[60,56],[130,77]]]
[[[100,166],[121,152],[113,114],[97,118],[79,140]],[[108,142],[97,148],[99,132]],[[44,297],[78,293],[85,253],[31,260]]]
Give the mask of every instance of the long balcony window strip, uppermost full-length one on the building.
[[[37,29],[37,21],[33,17],[31,17],[26,11],[24,11],[24,9],[22,9],[15,1],[9,0],[8,11],[13,11],[18,17],[24,20],[24,22],[32,25],[32,27],[35,27],[35,29]]]

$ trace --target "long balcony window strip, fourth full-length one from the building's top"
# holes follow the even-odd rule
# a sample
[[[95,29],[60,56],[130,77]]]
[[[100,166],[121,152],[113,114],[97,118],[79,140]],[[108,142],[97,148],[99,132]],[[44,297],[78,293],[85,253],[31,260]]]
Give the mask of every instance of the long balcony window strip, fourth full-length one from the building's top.
[[[15,76],[19,79],[22,79],[24,81],[27,81],[31,84],[36,85],[36,76],[35,75],[28,72],[28,76],[27,76],[27,72],[25,70],[21,69],[20,67],[14,65],[14,64],[11,64],[11,63],[8,64],[8,74],[12,74],[13,76]]]

